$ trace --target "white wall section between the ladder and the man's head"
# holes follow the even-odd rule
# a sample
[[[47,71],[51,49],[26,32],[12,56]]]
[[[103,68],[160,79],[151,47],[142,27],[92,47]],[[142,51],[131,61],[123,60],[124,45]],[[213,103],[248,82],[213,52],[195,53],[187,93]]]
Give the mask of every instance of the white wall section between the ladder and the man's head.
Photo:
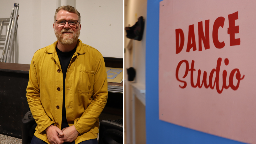
[[[19,63],[30,64],[34,53],[57,39],[52,28],[56,1],[19,1]]]

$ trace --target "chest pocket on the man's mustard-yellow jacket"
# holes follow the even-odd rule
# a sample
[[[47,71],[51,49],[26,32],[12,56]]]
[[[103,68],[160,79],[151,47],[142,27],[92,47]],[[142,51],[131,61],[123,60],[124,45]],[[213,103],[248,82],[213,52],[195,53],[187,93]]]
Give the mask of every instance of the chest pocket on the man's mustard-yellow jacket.
[[[81,94],[88,94],[93,92],[95,71],[79,70],[79,87],[78,91]]]

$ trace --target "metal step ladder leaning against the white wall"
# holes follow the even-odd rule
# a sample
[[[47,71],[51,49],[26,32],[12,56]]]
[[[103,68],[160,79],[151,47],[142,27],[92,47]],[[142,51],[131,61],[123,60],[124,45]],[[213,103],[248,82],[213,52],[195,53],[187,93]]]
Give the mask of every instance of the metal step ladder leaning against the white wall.
[[[10,18],[0,18],[0,50],[3,50],[0,62],[15,63],[14,58],[18,62],[18,12],[19,4],[14,3]]]

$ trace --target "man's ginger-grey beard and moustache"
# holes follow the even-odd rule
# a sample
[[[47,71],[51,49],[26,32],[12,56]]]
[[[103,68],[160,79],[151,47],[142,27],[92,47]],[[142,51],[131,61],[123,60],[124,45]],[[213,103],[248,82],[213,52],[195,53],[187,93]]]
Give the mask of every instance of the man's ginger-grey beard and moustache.
[[[62,34],[63,32],[70,32],[73,34],[72,38],[69,37],[69,34]],[[62,44],[62,45],[71,45],[74,42],[77,42],[78,37],[80,35],[80,28],[78,28],[77,32],[74,33],[71,29],[63,29],[61,32],[58,32],[55,27],[54,27],[54,33],[56,35],[57,40]]]

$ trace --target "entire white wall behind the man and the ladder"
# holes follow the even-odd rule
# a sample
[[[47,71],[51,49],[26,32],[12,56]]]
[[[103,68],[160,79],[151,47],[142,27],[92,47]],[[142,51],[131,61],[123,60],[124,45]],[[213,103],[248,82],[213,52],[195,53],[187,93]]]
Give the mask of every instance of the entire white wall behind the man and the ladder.
[[[38,49],[57,40],[53,23],[60,4],[70,4],[81,14],[83,43],[105,57],[122,58],[122,0],[0,0],[0,18],[10,17],[15,2],[19,3],[19,63],[30,64]]]

